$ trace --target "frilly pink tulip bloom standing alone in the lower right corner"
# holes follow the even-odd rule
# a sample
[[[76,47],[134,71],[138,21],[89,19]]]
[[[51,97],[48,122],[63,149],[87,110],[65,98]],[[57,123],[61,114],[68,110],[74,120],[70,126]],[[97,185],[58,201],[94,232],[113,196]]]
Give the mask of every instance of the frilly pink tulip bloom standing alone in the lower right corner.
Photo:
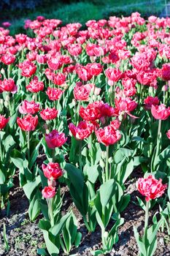
[[[162,184],[161,178],[158,180],[152,175],[147,178],[139,178],[136,183],[136,187],[139,192],[146,197],[146,201],[161,197],[167,187],[166,184]]]

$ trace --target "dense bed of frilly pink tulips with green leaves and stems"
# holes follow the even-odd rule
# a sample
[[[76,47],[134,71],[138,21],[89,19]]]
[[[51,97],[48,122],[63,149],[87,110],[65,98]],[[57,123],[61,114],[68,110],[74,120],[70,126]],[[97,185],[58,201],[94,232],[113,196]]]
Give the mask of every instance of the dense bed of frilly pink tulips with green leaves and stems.
[[[0,27],[1,212],[8,219],[18,187],[44,241],[27,255],[120,255],[117,244],[133,236],[122,255],[161,256],[158,236],[170,240],[170,18],[134,12],[82,29],[38,16],[25,29],[12,37],[10,23]],[[126,222],[133,234],[123,242]],[[10,252],[7,229],[1,255],[24,255]],[[98,238],[89,252],[85,236]]]

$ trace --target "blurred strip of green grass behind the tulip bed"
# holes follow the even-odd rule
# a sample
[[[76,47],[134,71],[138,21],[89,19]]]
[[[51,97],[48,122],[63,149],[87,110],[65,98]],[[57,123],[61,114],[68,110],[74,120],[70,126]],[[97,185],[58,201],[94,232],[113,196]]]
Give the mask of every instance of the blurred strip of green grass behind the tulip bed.
[[[44,15],[45,18],[57,18],[63,20],[63,25],[66,23],[80,22],[85,24],[87,20],[98,20],[101,18],[109,18],[111,15],[125,15],[128,16],[131,12],[141,12],[143,16],[148,15],[159,15],[163,10],[163,0],[159,1],[160,4],[152,5],[145,4],[147,0],[93,0],[93,1],[72,1],[70,4],[64,4],[60,1],[53,1],[53,4],[48,4],[46,7],[39,7],[33,12],[31,10],[26,10],[23,12],[18,10],[18,12],[10,12],[7,16],[7,11],[4,15],[1,15],[1,20],[11,21],[12,26],[10,28],[11,34],[18,34],[24,32],[23,24],[26,18],[33,20],[38,15]],[[7,19],[9,17],[9,19]]]

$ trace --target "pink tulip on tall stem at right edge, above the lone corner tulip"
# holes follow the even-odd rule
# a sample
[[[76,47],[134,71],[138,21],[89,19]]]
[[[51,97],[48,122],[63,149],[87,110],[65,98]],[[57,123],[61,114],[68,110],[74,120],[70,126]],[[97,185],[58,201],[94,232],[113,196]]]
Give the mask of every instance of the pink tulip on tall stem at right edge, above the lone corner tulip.
[[[166,120],[170,116],[170,107],[166,108],[164,104],[152,105],[151,113],[155,119]]]

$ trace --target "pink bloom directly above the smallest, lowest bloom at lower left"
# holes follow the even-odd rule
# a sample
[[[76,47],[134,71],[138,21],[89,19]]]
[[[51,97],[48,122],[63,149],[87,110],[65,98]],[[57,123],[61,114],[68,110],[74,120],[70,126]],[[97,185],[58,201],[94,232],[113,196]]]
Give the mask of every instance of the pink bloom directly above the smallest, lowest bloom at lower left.
[[[63,175],[63,170],[58,162],[49,162],[47,165],[42,164],[42,170],[48,179],[55,180]]]

